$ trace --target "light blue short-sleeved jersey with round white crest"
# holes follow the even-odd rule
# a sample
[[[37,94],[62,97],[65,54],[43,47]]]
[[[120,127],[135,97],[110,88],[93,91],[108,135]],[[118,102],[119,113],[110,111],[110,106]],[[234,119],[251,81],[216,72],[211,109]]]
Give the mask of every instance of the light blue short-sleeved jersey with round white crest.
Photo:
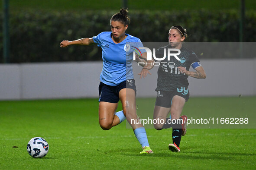
[[[143,45],[139,38],[126,35],[127,37],[118,44],[111,39],[111,31],[101,32],[93,37],[93,41],[102,49],[103,69],[100,81],[106,85],[119,85],[121,82],[133,79],[132,48]]]

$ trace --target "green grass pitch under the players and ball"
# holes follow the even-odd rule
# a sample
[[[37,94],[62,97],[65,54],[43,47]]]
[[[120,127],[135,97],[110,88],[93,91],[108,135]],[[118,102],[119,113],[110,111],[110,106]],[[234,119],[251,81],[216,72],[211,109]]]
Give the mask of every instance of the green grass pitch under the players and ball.
[[[152,114],[154,100],[137,99],[138,112],[150,109]],[[191,98],[183,114],[190,117],[198,112],[216,112],[223,116],[229,110],[255,113],[255,103],[256,97]],[[139,154],[141,146],[126,123],[108,131],[100,128],[97,99],[0,101],[0,169],[256,167],[256,129],[188,129],[181,139],[180,153],[168,149],[170,129],[146,132],[152,155]],[[26,151],[27,142],[36,136],[49,143],[49,152],[43,158],[32,158]]]

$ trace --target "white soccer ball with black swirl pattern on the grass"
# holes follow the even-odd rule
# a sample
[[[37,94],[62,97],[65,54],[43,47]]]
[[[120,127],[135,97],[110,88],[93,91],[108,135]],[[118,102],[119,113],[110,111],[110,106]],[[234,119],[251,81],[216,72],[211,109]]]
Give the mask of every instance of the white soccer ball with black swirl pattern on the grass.
[[[27,145],[27,151],[32,157],[44,157],[49,151],[49,145],[45,139],[35,137],[30,139]]]

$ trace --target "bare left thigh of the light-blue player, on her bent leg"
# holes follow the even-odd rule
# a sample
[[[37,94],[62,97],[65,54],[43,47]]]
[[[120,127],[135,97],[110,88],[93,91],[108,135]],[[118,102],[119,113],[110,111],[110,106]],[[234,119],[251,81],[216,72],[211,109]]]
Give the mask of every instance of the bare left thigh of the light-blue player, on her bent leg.
[[[112,124],[114,119],[114,113],[117,110],[117,103],[110,103],[100,101],[99,104],[99,122]]]

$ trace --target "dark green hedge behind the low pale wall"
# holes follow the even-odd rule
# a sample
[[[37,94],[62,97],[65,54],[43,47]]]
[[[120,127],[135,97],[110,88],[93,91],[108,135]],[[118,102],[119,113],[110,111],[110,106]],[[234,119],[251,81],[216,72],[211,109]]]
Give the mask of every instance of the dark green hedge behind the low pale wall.
[[[97,45],[60,48],[62,40],[92,37],[110,31],[110,18],[116,11],[43,12],[10,14],[10,62],[55,62],[101,60]],[[127,33],[141,41],[167,41],[172,25],[187,28],[187,41],[239,41],[239,14],[235,10],[137,11],[130,14]],[[3,13],[0,13],[2,23]],[[246,13],[244,40],[256,40],[256,12]],[[2,27],[0,40],[3,39]],[[0,62],[3,42],[0,41]]]

